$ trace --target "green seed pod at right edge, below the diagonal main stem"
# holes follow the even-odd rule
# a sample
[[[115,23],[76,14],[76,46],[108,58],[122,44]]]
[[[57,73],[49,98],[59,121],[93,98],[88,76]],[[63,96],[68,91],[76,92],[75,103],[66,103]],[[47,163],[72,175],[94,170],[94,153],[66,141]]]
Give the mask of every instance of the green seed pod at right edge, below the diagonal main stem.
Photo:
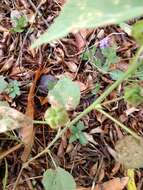
[[[139,85],[127,86],[124,92],[124,99],[134,106],[143,103],[143,89]]]

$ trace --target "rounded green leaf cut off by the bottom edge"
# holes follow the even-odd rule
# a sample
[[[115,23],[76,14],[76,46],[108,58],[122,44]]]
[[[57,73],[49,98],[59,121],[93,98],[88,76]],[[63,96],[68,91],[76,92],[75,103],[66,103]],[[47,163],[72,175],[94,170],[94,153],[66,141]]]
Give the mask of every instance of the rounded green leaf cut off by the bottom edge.
[[[72,175],[60,167],[56,170],[48,169],[44,173],[42,183],[45,190],[76,190]]]

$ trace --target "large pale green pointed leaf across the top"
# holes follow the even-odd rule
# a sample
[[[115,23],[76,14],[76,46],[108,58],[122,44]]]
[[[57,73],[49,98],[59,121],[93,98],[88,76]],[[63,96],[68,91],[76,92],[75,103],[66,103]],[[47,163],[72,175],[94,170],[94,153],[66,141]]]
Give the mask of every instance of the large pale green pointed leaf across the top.
[[[32,47],[66,36],[73,30],[121,23],[143,13],[141,0],[70,0],[54,24],[37,39]]]

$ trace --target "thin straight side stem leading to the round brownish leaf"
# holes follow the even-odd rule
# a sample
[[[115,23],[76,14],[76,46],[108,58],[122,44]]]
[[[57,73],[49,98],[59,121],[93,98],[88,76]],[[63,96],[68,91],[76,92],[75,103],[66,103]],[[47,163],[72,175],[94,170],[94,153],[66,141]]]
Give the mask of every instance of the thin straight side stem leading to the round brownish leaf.
[[[129,133],[130,135],[132,135],[134,138],[140,140],[140,136],[138,136],[134,131],[132,131],[131,129],[129,129],[127,126],[125,126],[124,124],[122,124],[120,121],[118,121],[117,119],[113,118],[110,114],[108,114],[107,112],[105,112],[104,110],[102,110],[102,108],[99,108],[99,107],[96,108],[95,107],[95,109],[97,111],[99,111],[100,113],[102,113],[103,115],[105,115],[106,117],[108,117],[109,119],[111,119],[114,123],[116,123],[122,129],[124,129],[127,133]]]

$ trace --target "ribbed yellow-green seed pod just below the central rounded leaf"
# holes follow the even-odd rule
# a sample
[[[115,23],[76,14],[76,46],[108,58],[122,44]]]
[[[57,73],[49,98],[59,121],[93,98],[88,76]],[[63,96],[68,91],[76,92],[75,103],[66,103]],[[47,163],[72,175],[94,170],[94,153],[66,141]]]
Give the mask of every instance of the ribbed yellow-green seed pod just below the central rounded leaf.
[[[69,121],[68,114],[63,107],[51,107],[45,112],[45,121],[53,128],[57,129]]]

